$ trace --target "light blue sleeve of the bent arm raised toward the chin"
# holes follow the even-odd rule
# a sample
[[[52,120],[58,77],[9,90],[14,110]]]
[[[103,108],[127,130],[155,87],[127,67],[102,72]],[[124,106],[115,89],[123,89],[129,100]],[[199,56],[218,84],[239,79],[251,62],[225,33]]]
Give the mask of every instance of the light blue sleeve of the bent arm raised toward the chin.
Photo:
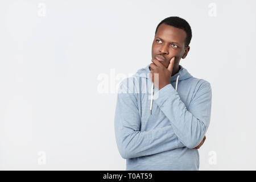
[[[212,89],[209,82],[203,79],[198,85],[188,108],[171,84],[160,89],[158,98],[154,100],[171,122],[177,138],[188,148],[199,145],[210,123]]]

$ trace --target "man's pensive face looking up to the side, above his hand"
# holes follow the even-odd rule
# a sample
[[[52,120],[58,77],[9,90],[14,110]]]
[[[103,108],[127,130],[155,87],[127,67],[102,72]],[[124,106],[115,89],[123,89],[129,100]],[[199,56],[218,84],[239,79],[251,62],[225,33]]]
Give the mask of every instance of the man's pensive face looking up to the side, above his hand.
[[[184,59],[189,51],[189,46],[185,47],[186,37],[184,30],[160,24],[152,43],[152,59],[159,60],[167,68],[172,57],[175,57],[174,67],[179,65],[181,57]]]

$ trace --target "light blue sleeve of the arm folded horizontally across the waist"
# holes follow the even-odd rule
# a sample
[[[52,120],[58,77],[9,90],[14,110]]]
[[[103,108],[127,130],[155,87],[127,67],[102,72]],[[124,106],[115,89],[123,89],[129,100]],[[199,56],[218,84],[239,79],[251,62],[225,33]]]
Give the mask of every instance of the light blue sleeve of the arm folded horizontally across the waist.
[[[150,131],[140,131],[141,118],[137,95],[127,93],[124,82],[119,85],[115,109],[115,139],[123,159],[137,158],[184,147],[172,126]]]

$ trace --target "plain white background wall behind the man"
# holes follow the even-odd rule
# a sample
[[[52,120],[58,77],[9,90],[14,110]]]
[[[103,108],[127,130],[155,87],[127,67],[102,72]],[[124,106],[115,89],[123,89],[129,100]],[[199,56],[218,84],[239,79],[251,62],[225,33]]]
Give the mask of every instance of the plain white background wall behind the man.
[[[200,170],[255,170],[255,7],[0,1],[0,169],[125,169],[114,135],[118,73],[150,64],[156,26],[180,16],[192,28],[180,64],[213,92]],[[107,93],[98,89],[102,74]]]

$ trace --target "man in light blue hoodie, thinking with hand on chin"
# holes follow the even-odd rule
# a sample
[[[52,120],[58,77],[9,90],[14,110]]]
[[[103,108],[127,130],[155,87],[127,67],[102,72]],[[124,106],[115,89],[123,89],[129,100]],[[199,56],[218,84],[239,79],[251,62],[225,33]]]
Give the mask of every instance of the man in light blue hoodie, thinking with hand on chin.
[[[162,20],[152,63],[119,84],[115,139],[126,170],[199,170],[197,149],[209,127],[212,89],[179,65],[191,38],[186,20]]]

